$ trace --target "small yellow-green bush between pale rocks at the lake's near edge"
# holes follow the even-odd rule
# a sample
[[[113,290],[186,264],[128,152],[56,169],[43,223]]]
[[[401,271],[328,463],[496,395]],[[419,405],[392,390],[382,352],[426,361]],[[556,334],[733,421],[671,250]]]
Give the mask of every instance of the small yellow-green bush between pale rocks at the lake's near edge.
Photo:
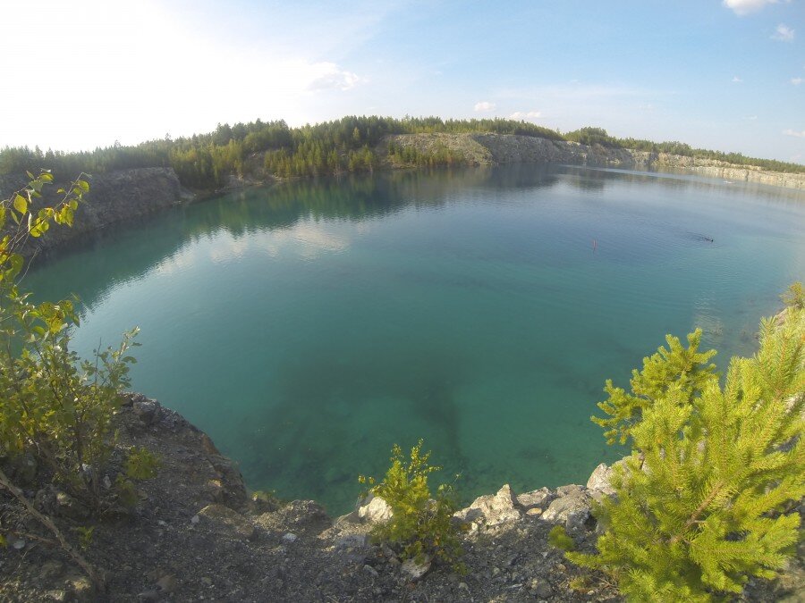
[[[428,475],[441,467],[428,465],[429,457],[430,452],[422,453],[422,440],[411,448],[410,458],[394,444],[392,465],[383,482],[376,483],[374,478],[363,475],[359,477],[359,482],[369,484],[369,491],[384,498],[394,513],[373,535],[377,540],[400,547],[403,558],[421,563],[428,557],[436,557],[463,572],[458,528],[453,523],[456,511],[453,489],[443,484],[436,491],[436,498],[431,498]]]

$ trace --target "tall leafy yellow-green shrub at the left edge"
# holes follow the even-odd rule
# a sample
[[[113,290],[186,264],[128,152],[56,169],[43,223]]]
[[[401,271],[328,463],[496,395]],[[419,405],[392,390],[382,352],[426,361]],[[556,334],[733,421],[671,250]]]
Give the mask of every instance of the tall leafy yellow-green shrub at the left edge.
[[[27,187],[0,201],[0,458],[35,457],[54,482],[99,509],[101,472],[114,448],[112,417],[129,384],[134,359],[127,353],[137,331],[81,360],[70,349],[79,323],[72,302],[37,304],[21,290],[21,245],[51,223],[71,225],[89,191],[86,180],[75,180],[57,191],[55,205],[37,209],[53,177],[29,176]]]

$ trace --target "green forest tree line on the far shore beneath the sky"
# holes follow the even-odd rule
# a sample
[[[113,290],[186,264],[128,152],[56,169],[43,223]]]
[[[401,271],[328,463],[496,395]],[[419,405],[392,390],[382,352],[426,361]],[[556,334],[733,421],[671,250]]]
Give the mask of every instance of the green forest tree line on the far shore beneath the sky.
[[[738,153],[692,148],[680,142],[655,143],[635,138],[614,138],[600,128],[581,128],[565,134],[533,123],[505,119],[443,120],[439,117],[347,116],[299,128],[285,121],[250,121],[218,124],[216,130],[191,137],[149,140],[139,145],[97,147],[92,151],[65,153],[38,147],[4,147],[0,150],[0,174],[36,173],[47,166],[57,179],[72,174],[102,173],[140,167],[172,167],[182,184],[215,189],[230,174],[248,176],[269,173],[281,178],[320,176],[377,170],[387,156],[397,166],[439,166],[466,163],[461,152],[444,146],[430,150],[384,146],[389,135],[422,133],[516,134],[550,140],[569,140],[587,145],[634,148],[717,159],[741,165],[758,165],[776,172],[805,172],[805,166],[756,159]]]

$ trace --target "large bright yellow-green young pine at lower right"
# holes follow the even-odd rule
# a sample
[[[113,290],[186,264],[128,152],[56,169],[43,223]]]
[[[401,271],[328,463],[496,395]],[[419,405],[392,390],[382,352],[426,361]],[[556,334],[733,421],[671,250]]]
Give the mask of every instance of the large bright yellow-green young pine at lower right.
[[[612,419],[593,419],[633,453],[597,509],[606,527],[597,554],[567,557],[611,574],[635,601],[741,592],[750,576],[773,578],[798,540],[805,311],[779,326],[764,320],[758,354],[733,357],[723,387],[703,366],[711,353],[699,356],[698,335],[689,341],[644,361],[631,395],[607,383],[600,406]]]

